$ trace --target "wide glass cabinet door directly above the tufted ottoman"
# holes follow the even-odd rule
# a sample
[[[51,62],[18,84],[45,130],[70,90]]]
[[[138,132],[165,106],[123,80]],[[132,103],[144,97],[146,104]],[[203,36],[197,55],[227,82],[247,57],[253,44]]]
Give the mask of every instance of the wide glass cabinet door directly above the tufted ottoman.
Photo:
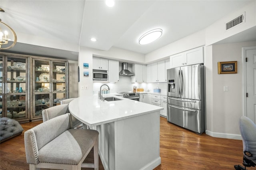
[[[4,69],[4,117],[29,120],[28,58],[6,56]]]

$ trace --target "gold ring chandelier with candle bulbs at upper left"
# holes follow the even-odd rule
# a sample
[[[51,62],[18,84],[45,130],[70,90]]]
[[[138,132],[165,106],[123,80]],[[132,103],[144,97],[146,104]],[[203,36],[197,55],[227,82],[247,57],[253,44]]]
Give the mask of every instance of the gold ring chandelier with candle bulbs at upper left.
[[[4,10],[0,8],[0,12],[4,12]],[[2,32],[3,29],[4,29],[4,33]],[[11,36],[12,39],[10,39],[10,36],[8,36],[9,32],[11,32],[13,35]],[[9,43],[10,41],[12,41],[13,43]],[[0,49],[9,49],[13,47],[16,44],[16,42],[17,42],[17,36],[14,30],[12,30],[12,28],[10,28],[10,26],[8,26],[7,24],[4,24],[0,19]]]

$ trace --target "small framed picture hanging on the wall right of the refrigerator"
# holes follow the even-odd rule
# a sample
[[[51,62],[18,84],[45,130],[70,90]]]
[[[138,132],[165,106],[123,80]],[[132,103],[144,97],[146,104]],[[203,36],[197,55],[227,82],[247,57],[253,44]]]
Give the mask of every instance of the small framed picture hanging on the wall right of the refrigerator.
[[[237,61],[218,62],[218,74],[237,73]]]

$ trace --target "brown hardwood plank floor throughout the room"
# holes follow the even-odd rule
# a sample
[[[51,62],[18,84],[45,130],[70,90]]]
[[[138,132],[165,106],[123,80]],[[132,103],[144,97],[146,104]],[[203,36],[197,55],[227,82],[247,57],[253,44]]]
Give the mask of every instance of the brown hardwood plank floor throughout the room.
[[[24,131],[0,144],[0,170],[28,170],[24,150],[24,132],[42,121],[21,124]],[[242,140],[213,138],[198,135],[167,123],[160,118],[161,165],[154,170],[234,170],[235,164],[242,165]],[[145,155],[146,156],[146,155]],[[86,161],[93,162],[93,152]],[[136,163],[136,162],[131,162]],[[255,168],[246,168],[252,170]],[[82,168],[92,170],[92,168]],[[100,161],[99,170],[104,170]]]

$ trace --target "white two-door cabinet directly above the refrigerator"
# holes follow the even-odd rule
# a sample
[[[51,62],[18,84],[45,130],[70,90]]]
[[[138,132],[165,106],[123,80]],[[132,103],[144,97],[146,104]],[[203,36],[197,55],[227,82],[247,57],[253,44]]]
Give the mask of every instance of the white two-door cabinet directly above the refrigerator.
[[[204,63],[203,47],[198,47],[170,56],[170,67]]]

